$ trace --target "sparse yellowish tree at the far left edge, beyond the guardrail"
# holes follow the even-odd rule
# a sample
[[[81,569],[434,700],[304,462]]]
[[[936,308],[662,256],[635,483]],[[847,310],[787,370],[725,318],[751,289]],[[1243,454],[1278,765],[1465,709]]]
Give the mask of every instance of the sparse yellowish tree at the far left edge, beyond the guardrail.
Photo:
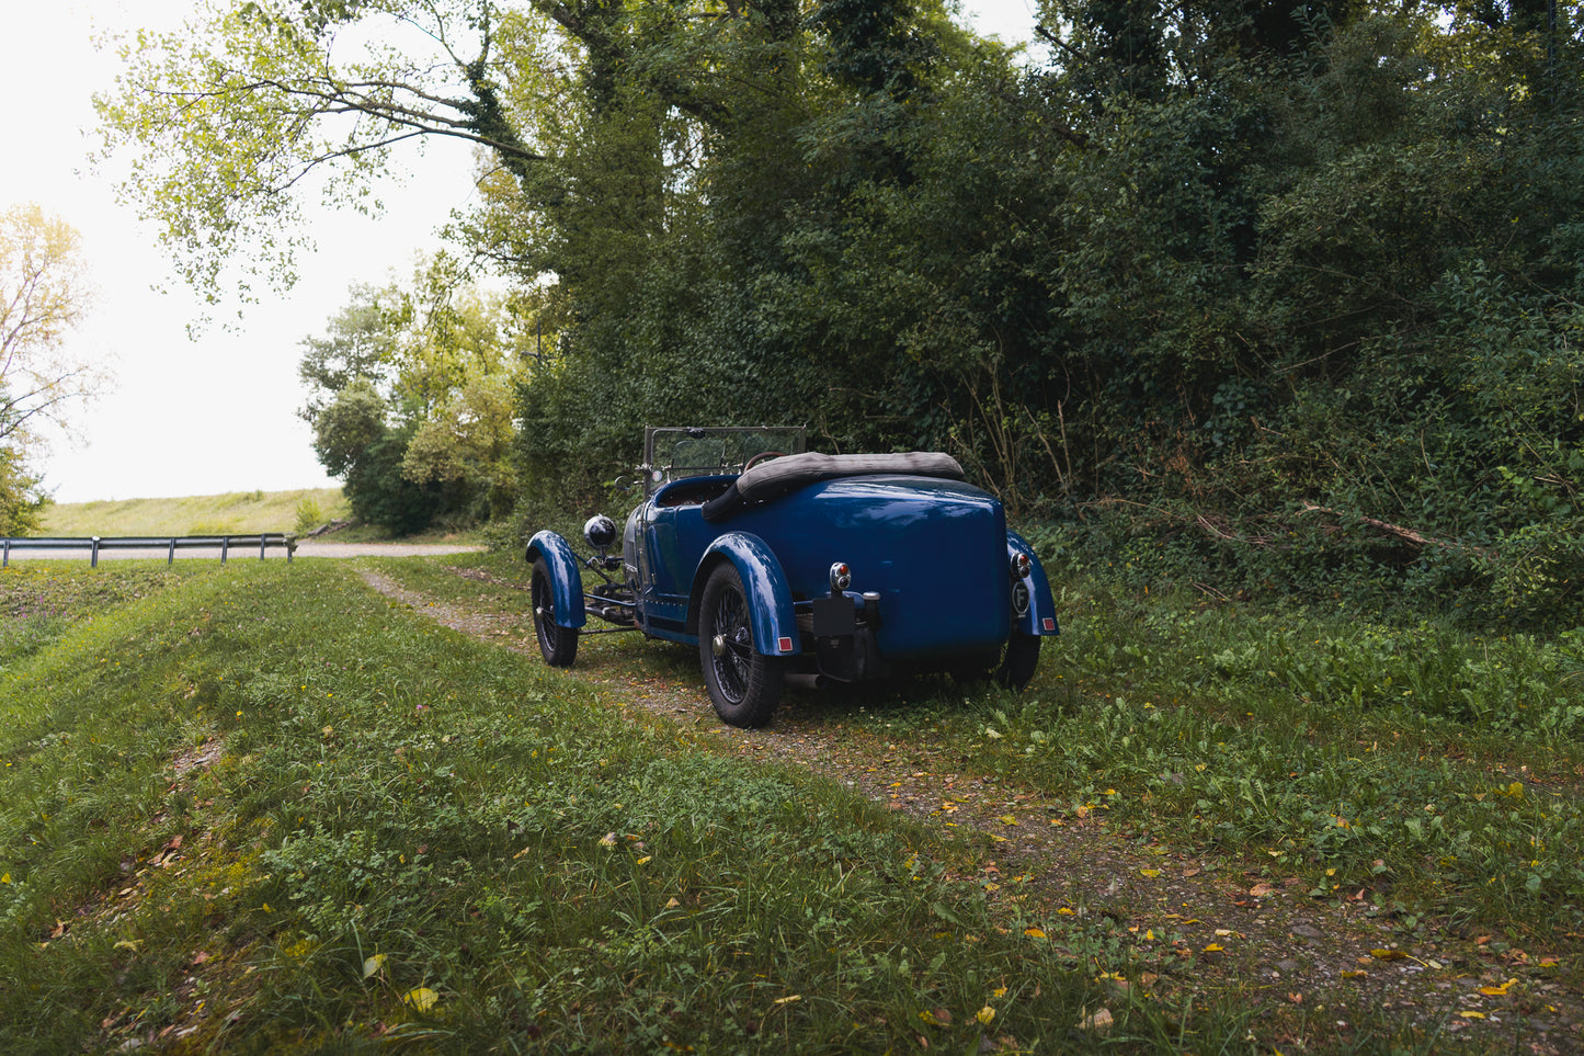
[[[36,205],[0,212],[0,530],[35,526],[27,469],[40,422],[90,396],[98,373],[68,347],[89,303],[81,238]],[[10,526],[5,526],[10,523]]]

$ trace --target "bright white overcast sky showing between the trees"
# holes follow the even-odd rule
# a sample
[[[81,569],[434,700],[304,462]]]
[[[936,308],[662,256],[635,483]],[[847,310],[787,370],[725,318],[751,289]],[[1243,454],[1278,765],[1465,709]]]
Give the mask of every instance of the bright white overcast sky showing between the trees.
[[[36,201],[82,235],[95,287],[74,350],[114,373],[109,390],[71,412],[79,441],[51,438],[35,465],[60,503],[333,487],[296,417],[299,342],[323,331],[355,282],[407,276],[418,252],[440,246],[436,230],[472,200],[463,143],[429,143],[406,162],[410,176],[379,189],[386,212],[312,214],[318,251],[298,258],[284,295],[260,293],[234,320],[196,338],[201,306],[154,241],[154,230],[116,205],[111,174],[87,171],[95,146],[90,97],[111,87],[112,52],[101,30],[168,29],[190,0],[52,0],[10,5],[0,40],[0,209]],[[965,0],[973,22],[1003,40],[1028,40],[1034,0]],[[168,293],[150,289],[162,284]],[[219,322],[233,320],[230,330]]]

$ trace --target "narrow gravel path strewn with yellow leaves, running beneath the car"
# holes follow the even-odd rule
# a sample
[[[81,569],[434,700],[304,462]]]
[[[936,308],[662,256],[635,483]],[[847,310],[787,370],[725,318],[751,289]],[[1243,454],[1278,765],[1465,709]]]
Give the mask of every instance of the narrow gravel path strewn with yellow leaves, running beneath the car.
[[[455,571],[504,582],[480,569]],[[437,623],[537,655],[521,610],[436,603],[372,569],[361,576]],[[1107,977],[1120,1002],[1137,999],[1129,994],[1134,988],[1167,1004],[1240,993],[1266,1015],[1281,1010],[1277,1016],[1288,1031],[1305,1024],[1296,1037],[1331,1042],[1346,1039],[1354,1021],[1375,1010],[1427,1029],[1441,1023],[1475,1048],[1506,1048],[1511,1024],[1522,1023],[1524,1051],[1584,1053],[1581,996],[1559,978],[1555,956],[1527,953],[1516,940],[1403,932],[1375,909],[1375,891],[1310,897],[1296,875],[1118,831],[1104,810],[1074,809],[973,774],[950,745],[890,744],[833,721],[825,709],[800,707],[808,694],[789,693],[767,729],[733,729],[716,720],[699,679],[589,660],[580,660],[577,674],[621,710],[648,712],[752,759],[805,766],[925,825],[988,837],[976,855],[976,874],[961,878],[992,901],[1020,904],[1047,920],[1087,920],[1090,931],[1126,947],[1140,972],[1133,980]],[[1066,937],[1050,940],[1060,947]]]

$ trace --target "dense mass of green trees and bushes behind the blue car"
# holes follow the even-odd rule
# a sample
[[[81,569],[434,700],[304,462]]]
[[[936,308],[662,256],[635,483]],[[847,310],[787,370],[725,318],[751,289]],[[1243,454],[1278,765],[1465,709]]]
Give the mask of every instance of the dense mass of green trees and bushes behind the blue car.
[[[383,135],[459,117],[494,152],[456,235],[515,281],[501,312],[431,274],[304,358],[310,414],[363,377],[417,425],[402,473],[445,515],[594,501],[643,425],[805,422],[952,450],[1140,577],[1559,629],[1584,11],[1541,6],[1045,0],[1019,67],[933,0],[255,3],[131,49],[103,113],[200,257]],[[320,76],[386,13],[469,46]],[[361,103],[352,141],[326,101]]]

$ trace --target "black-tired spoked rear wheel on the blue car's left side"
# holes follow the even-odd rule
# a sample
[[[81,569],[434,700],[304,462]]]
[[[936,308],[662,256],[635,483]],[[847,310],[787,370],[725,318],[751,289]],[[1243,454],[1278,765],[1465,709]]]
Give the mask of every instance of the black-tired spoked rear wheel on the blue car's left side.
[[[703,585],[699,606],[699,664],[714,714],[729,726],[756,729],[770,721],[786,688],[786,661],[754,652],[748,591],[730,564]]]

